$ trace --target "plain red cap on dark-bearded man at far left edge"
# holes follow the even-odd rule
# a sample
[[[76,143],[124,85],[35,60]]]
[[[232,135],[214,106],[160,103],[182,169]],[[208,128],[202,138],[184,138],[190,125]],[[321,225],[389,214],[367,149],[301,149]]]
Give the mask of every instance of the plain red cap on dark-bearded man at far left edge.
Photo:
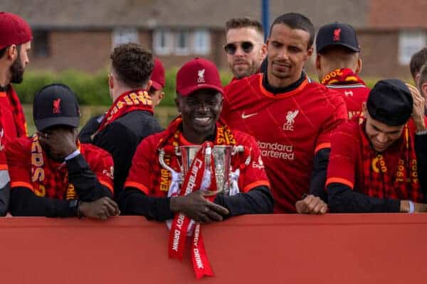
[[[33,39],[28,23],[14,13],[0,12],[0,49]]]

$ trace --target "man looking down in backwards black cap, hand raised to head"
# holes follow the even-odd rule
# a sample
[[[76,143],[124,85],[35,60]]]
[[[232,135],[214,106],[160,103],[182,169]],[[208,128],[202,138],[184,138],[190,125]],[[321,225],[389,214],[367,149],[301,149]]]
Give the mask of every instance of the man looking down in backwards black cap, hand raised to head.
[[[330,211],[427,212],[423,98],[400,80],[382,80],[363,112],[362,124],[349,121],[332,134]]]

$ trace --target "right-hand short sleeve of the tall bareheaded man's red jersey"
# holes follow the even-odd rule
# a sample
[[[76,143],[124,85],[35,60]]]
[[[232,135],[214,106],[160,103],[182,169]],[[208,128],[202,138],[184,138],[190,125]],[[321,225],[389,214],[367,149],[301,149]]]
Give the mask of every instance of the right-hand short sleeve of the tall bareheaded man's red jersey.
[[[315,153],[324,148],[331,147],[331,136],[332,131],[342,124],[342,122],[347,121],[347,107],[345,105],[344,99],[342,96],[329,90],[330,94],[327,97],[328,108],[325,111],[328,111],[330,114],[327,119],[325,119],[325,123],[320,129],[319,137],[317,138]]]

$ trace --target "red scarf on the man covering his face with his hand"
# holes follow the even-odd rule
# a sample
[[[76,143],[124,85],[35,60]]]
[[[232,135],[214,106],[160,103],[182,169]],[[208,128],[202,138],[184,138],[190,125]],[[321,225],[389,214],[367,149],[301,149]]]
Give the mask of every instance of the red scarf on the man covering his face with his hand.
[[[34,194],[58,200],[77,198],[74,186],[68,183],[65,163],[58,163],[46,155],[34,135],[31,144],[31,175]],[[80,145],[78,143],[78,148]],[[81,150],[81,149],[80,149]]]

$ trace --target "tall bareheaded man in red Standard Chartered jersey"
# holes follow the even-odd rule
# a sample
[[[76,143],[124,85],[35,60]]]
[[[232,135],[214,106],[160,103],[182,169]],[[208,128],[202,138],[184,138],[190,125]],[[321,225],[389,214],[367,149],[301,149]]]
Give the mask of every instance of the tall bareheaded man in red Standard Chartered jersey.
[[[330,135],[347,119],[342,97],[303,72],[314,37],[311,21],[299,13],[275,18],[267,73],[225,88],[221,116],[258,140],[277,213],[327,211],[319,196],[326,200]]]

